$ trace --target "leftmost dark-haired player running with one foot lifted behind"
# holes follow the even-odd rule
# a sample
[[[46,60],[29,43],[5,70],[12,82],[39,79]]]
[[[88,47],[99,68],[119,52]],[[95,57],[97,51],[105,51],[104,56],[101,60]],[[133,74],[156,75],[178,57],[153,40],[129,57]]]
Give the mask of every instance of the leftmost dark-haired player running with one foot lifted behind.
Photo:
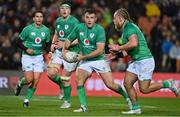
[[[42,55],[43,45],[51,45],[49,29],[42,24],[43,12],[36,11],[33,17],[33,24],[26,26],[19,35],[17,45],[23,50],[22,70],[24,78],[20,79],[14,93],[19,95],[24,85],[29,85],[23,106],[28,107],[41,73],[44,71],[44,58]],[[49,46],[50,47],[50,46]]]

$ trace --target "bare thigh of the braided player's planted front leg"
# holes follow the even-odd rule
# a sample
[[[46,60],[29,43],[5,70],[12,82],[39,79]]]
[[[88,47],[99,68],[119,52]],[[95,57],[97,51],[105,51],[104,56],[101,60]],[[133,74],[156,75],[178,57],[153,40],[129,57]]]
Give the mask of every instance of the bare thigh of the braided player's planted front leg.
[[[132,87],[137,80],[138,80],[138,76],[136,74],[129,71],[125,72],[124,86],[126,88]]]

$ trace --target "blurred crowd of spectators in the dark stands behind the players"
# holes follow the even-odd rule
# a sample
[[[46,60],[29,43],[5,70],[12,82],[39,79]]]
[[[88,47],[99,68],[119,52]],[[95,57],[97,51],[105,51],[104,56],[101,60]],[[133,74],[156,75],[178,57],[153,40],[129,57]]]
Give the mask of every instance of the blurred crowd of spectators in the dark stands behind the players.
[[[0,0],[0,69],[21,69],[21,51],[15,41],[32,14],[41,9],[44,24],[54,33],[58,5],[63,0]],[[113,25],[113,13],[126,8],[143,31],[156,61],[157,72],[180,72],[180,0],[72,0],[72,15],[83,21],[83,10],[93,7],[105,28],[107,44],[121,44],[121,32]],[[106,48],[108,52],[108,48]],[[47,57],[46,57],[47,58]],[[130,58],[114,59],[112,71],[124,71]]]

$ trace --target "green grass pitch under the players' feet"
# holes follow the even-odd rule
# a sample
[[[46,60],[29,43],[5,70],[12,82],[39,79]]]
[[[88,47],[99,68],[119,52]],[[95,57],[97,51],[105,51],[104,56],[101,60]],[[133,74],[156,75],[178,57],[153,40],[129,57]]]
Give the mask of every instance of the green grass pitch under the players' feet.
[[[0,116],[126,116],[127,106],[119,97],[88,97],[86,113],[73,113],[79,108],[77,97],[72,97],[70,109],[60,109],[57,97],[34,96],[29,108],[23,108],[22,96],[0,96]],[[140,98],[143,113],[138,116],[180,116],[179,98]]]

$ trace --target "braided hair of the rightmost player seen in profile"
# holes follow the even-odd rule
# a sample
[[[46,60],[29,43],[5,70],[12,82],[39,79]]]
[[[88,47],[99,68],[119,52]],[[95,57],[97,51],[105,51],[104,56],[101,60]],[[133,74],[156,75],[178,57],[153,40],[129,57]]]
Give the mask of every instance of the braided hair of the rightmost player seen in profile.
[[[125,8],[120,8],[116,11],[117,15],[122,16],[124,19],[133,22],[128,11]]]

